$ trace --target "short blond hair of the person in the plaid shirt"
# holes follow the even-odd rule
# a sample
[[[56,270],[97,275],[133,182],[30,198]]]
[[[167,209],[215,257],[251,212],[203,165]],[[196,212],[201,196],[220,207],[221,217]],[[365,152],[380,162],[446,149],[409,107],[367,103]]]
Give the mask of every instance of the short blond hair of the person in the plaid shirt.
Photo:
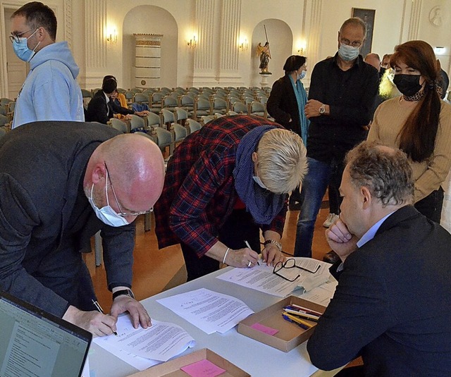
[[[257,148],[257,173],[269,191],[288,194],[307,173],[307,150],[302,138],[290,130],[266,132]]]

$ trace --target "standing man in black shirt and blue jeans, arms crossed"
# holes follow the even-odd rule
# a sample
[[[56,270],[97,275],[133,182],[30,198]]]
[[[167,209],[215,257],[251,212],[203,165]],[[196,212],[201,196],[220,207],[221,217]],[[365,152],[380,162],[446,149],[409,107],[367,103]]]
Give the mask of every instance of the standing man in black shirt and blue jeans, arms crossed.
[[[366,139],[373,118],[378,73],[360,53],[366,26],[350,18],[338,32],[338,52],[316,64],[311,73],[305,115],[310,120],[307,138],[309,171],[302,183],[302,206],[297,221],[295,257],[311,257],[316,216],[330,183],[329,201],[338,210],[338,187],[345,154]],[[337,213],[338,214],[338,213]],[[326,254],[326,257],[335,257]]]

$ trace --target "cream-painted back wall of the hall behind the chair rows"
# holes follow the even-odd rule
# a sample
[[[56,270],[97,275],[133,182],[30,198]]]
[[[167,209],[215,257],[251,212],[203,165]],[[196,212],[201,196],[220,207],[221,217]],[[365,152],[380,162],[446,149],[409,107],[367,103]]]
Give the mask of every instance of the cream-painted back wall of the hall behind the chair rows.
[[[187,41],[197,30],[194,25],[195,8],[199,0],[51,0],[56,10],[58,40],[70,42],[75,61],[80,66],[80,85],[97,87],[106,74],[114,74],[122,87],[132,84],[132,32],[160,33],[167,36],[162,43],[162,77],[164,86],[190,86],[194,71],[194,53]],[[217,8],[223,0],[215,1]],[[380,55],[393,51],[393,47],[409,37],[424,39],[433,47],[443,46],[442,66],[450,73],[451,0],[236,0],[240,6],[240,38],[247,39],[249,48],[240,51],[236,77],[246,86],[258,85],[258,42],[265,42],[261,24],[266,24],[273,58],[269,68],[274,80],[283,75],[282,66],[290,54],[297,54],[299,44],[307,47],[309,72],[316,61],[337,50],[337,33],[342,22],[352,15],[352,7],[376,9],[372,50]],[[26,1],[0,0],[0,96],[7,94],[6,49],[10,43],[5,30],[4,11],[19,7]],[[96,16],[88,11],[92,4],[104,4],[104,23],[115,27],[117,44],[98,42],[98,49],[106,49],[106,63],[87,67],[87,46],[92,36],[87,25]],[[235,4],[235,3],[234,3]],[[443,23],[433,25],[429,16],[435,6],[441,7]],[[221,22],[215,12],[214,22]],[[274,30],[276,29],[276,30]],[[314,33],[319,35],[315,38]],[[216,37],[216,35],[214,36]],[[216,42],[216,41],[215,41]],[[219,42],[218,42],[219,43]],[[92,51],[92,50],[91,50]],[[216,51],[216,50],[215,50]],[[218,62],[218,58],[215,58]],[[218,71],[218,70],[216,70]],[[308,86],[309,72],[304,80]],[[238,79],[237,79],[238,80]],[[89,85],[87,85],[89,82]]]

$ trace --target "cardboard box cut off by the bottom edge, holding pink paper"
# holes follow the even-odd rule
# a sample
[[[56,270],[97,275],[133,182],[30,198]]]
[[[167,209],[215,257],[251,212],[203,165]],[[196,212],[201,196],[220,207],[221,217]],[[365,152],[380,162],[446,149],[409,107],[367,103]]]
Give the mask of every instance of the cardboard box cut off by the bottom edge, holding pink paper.
[[[189,375],[180,368],[203,359],[207,359],[220,368],[226,369],[226,372],[222,373],[221,377],[250,377],[249,373],[207,348],[152,366],[145,371],[133,374],[132,377],[187,377]]]

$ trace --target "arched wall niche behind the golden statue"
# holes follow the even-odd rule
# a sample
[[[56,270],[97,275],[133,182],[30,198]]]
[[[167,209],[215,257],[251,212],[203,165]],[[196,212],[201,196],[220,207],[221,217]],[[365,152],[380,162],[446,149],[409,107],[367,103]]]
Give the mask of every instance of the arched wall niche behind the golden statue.
[[[272,75],[268,78],[269,86],[272,86],[274,81],[284,75],[283,64],[288,56],[292,55],[293,34],[287,23],[275,18],[268,18],[258,23],[252,32],[253,52],[249,80],[251,86],[259,86],[261,82],[261,75],[259,75],[260,59],[259,56],[257,56],[257,46],[259,43],[264,46],[266,42],[264,26],[266,26],[269,47],[271,50],[271,60],[268,64],[268,70]]]

